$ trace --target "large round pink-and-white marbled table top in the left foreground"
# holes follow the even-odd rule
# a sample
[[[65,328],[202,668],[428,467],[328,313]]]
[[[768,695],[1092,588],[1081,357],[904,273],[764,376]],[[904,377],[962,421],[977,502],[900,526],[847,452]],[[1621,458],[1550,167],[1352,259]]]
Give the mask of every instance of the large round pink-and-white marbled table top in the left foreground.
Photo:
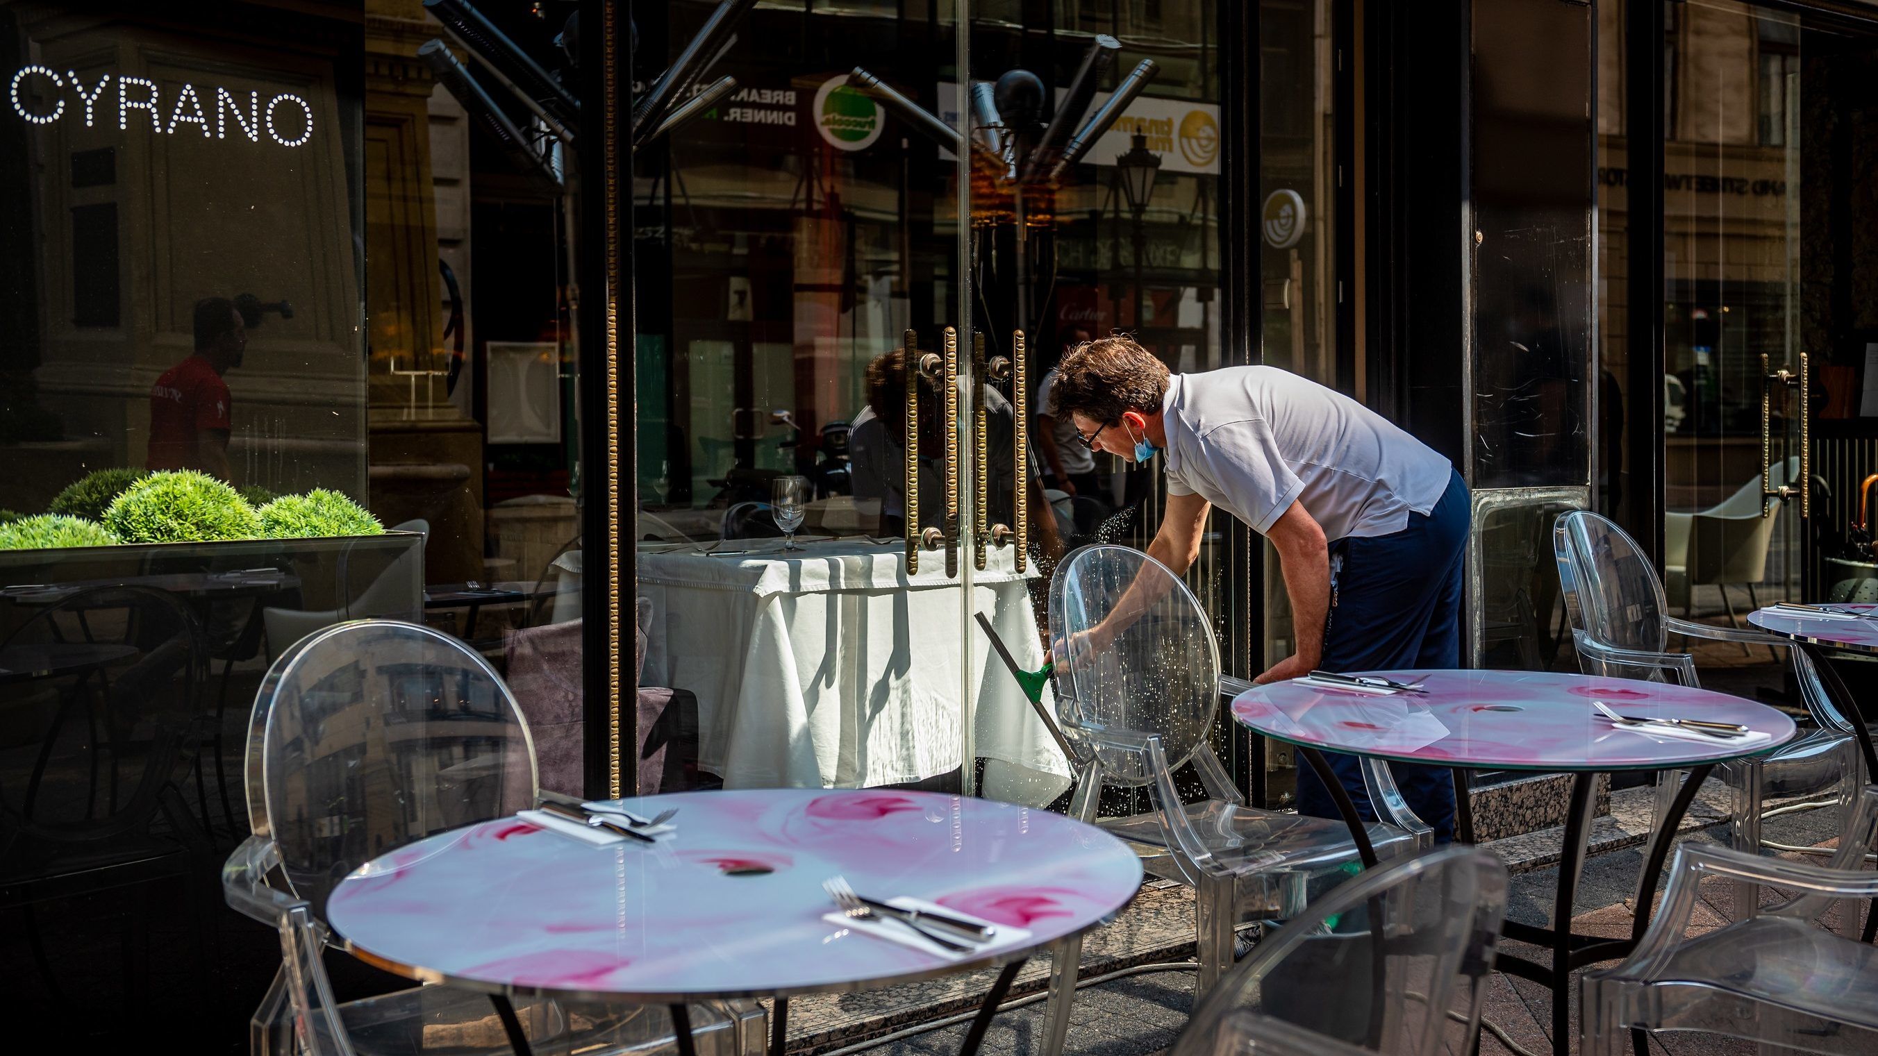
[[[665,1003],[851,990],[1022,956],[1112,919],[1142,881],[1114,836],[1059,814],[888,789],[747,789],[678,808],[655,846],[595,847],[516,817],[374,859],[327,902],[366,962],[483,990]],[[633,806],[637,802],[637,806]],[[950,960],[823,921],[823,881],[1029,930]]]

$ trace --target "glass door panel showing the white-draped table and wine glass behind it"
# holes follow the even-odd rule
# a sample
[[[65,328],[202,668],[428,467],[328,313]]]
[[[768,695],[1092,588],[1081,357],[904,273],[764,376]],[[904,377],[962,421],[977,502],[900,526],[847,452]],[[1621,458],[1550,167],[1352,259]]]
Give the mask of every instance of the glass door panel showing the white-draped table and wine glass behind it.
[[[633,6],[642,793],[975,787],[960,15]]]

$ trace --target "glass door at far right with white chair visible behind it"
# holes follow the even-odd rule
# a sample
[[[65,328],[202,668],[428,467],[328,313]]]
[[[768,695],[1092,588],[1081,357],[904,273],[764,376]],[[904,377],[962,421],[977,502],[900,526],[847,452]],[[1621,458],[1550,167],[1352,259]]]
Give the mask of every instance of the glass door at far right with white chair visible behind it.
[[[1730,0],[1666,9],[1664,571],[1670,605],[1741,626],[1801,598],[1814,349],[1801,304],[1799,19]],[[1780,658],[1709,643],[1724,690],[1778,691]]]

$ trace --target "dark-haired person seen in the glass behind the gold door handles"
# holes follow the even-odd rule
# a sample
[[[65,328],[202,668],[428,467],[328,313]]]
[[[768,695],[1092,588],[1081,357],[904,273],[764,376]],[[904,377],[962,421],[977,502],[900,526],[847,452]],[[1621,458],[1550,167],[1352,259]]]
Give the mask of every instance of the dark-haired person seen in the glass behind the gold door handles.
[[[854,479],[856,500],[879,500],[881,536],[901,536],[905,532],[905,353],[888,351],[868,365],[868,406],[854,415],[849,432],[849,458]],[[986,396],[986,449],[990,451],[990,504],[988,520],[992,524],[1016,526],[1012,505],[1012,466],[1010,451],[1016,443],[1016,413],[1010,400],[997,389],[980,387]],[[963,395],[963,383],[962,383]],[[960,400],[963,408],[963,400]],[[960,412],[963,413],[963,410]],[[1037,453],[1029,453],[1029,485],[1025,489],[1025,511],[1031,537],[1042,554],[1055,558],[1063,552],[1057,536],[1055,515],[1042,490],[1042,468]],[[971,489],[971,479],[960,475],[960,490]],[[945,400],[935,385],[920,389],[920,528],[945,530]],[[962,524],[969,532],[971,524]]]

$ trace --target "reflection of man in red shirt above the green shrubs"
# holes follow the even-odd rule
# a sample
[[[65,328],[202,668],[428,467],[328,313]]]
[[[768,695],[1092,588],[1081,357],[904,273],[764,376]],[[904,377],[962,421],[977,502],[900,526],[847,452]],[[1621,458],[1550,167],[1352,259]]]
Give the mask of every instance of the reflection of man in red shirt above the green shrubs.
[[[229,479],[229,387],[240,366],[248,327],[227,297],[195,303],[195,353],[150,387],[150,455],[146,470],[201,470]]]

